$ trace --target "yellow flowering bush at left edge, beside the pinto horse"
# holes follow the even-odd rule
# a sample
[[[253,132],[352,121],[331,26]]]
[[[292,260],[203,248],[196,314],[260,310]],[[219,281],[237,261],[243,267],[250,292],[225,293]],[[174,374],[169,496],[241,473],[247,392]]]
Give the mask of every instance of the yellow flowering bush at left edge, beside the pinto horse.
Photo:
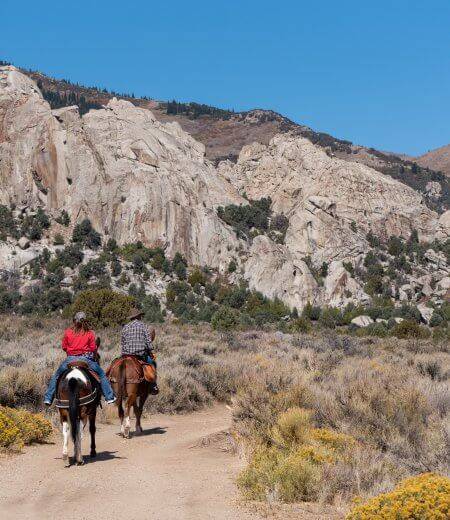
[[[24,444],[43,442],[52,432],[41,414],[0,407],[0,448],[20,449]]]

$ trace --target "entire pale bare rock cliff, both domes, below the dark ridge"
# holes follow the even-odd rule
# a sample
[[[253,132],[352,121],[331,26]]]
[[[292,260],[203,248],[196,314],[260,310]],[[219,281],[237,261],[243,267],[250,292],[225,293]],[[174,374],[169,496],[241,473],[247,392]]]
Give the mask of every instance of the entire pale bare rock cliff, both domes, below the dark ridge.
[[[247,243],[217,216],[217,207],[270,196],[289,219],[285,243]],[[119,243],[161,245],[193,264],[224,271],[233,258],[252,288],[291,307],[366,301],[343,261],[357,263],[366,234],[448,237],[448,213],[357,162],[330,157],[298,135],[245,146],[236,164],[217,167],[204,146],[177,123],[112,99],[80,117],[77,107],[51,110],[36,84],[0,68],[0,203],[66,209],[88,217]],[[306,257],[309,257],[308,262]],[[321,283],[309,266],[329,264]]]

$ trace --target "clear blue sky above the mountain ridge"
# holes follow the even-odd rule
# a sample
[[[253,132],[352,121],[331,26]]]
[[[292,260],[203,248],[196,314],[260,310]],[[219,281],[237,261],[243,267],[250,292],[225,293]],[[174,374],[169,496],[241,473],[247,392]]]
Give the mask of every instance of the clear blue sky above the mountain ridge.
[[[55,77],[382,150],[450,142],[450,0],[2,0],[0,19],[0,59]]]

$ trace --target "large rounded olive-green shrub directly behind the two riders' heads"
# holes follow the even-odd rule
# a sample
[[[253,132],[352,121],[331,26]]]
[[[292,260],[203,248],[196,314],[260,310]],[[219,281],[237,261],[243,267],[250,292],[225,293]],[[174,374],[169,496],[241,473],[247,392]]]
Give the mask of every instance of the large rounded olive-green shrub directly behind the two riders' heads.
[[[72,316],[83,311],[92,327],[111,327],[123,325],[134,305],[135,300],[130,296],[110,289],[89,289],[78,293],[65,314]]]

